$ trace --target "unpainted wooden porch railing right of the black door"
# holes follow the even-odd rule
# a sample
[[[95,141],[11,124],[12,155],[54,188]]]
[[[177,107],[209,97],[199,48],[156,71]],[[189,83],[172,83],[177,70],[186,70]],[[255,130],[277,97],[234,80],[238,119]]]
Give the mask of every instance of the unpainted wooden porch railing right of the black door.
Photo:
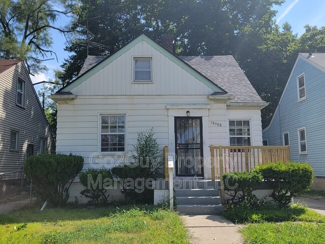
[[[212,180],[221,178],[226,172],[250,171],[260,163],[290,160],[289,146],[210,145],[209,147]]]

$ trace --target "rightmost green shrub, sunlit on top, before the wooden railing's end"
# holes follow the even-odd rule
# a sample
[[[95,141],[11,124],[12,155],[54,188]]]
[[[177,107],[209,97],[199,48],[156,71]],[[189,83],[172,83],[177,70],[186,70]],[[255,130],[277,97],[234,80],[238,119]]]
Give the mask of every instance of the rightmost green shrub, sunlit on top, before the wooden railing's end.
[[[281,207],[290,203],[293,193],[307,189],[313,178],[312,167],[299,162],[260,164],[253,171],[272,186],[271,197]]]

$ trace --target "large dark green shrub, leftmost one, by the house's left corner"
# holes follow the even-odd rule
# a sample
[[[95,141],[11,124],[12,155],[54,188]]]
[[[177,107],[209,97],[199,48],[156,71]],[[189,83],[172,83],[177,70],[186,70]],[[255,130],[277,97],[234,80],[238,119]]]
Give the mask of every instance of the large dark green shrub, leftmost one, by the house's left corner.
[[[36,185],[42,200],[60,206],[69,198],[69,187],[83,166],[83,158],[75,155],[40,154],[28,157],[24,170]]]

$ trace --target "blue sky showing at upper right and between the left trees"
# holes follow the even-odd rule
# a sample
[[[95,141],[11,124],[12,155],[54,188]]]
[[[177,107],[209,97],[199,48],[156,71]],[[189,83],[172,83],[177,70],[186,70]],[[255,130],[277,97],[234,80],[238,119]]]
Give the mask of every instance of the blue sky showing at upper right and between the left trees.
[[[281,6],[275,6],[278,13],[275,16],[276,22],[281,26],[285,21],[292,26],[293,33],[301,35],[304,32],[303,26],[306,24],[317,25],[317,27],[325,26],[325,0],[286,0]],[[64,26],[68,22],[68,17],[60,17],[57,19],[55,26]],[[63,48],[66,45],[65,38],[56,30],[51,31],[53,38],[52,49],[56,52],[58,62],[55,60],[45,61],[48,72],[41,73],[35,77],[31,77],[33,82],[48,80],[53,78],[53,69],[58,68],[64,58],[68,56],[68,52]],[[41,85],[35,85],[39,89]]]

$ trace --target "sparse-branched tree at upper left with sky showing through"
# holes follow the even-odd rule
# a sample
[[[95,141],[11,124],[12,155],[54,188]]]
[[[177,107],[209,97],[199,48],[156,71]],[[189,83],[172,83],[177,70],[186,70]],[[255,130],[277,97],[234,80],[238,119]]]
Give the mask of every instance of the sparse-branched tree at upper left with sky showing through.
[[[57,4],[65,10],[54,7]],[[0,58],[24,60],[29,73],[47,70],[42,61],[56,58],[50,49],[49,30],[70,32],[54,26],[54,22],[59,15],[71,13],[72,8],[68,0],[1,0]]]

